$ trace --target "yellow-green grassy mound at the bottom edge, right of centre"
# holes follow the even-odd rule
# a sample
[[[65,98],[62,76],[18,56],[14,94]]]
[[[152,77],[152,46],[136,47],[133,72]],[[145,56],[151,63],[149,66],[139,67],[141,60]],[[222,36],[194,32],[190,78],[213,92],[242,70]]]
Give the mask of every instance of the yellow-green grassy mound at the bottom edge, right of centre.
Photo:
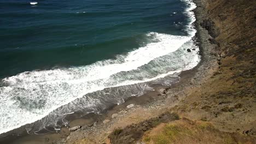
[[[251,137],[240,134],[224,133],[215,129],[211,123],[202,121],[179,121],[160,124],[143,136],[147,144],[167,143],[254,143]]]

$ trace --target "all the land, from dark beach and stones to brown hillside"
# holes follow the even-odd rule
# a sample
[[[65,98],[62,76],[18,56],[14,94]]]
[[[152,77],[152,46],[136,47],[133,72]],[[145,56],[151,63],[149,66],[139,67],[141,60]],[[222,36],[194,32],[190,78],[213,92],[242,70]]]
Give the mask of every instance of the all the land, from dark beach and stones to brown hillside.
[[[194,2],[201,62],[178,83],[11,143],[256,143],[256,4]]]

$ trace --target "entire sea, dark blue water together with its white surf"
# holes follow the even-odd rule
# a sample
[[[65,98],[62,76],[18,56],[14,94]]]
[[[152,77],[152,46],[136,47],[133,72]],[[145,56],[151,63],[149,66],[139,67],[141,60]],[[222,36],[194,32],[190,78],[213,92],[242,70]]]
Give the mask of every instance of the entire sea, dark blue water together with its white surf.
[[[200,61],[190,1],[37,2],[0,1],[0,134],[58,130]]]

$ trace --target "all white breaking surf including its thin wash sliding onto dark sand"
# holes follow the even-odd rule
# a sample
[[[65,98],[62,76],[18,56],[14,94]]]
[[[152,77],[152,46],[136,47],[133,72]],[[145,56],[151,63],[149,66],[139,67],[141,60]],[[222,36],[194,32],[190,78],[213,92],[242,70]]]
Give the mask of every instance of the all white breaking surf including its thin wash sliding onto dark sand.
[[[147,82],[164,82],[166,76],[168,83],[177,82],[178,73],[200,61],[192,40],[196,30],[190,10],[194,8],[195,4],[190,3],[186,10],[191,18],[188,36],[150,32],[144,35],[149,44],[114,59],[6,77],[0,87],[0,134],[39,119],[39,127],[27,130],[61,127],[57,121],[65,123],[63,118],[68,113],[99,113],[110,104],[121,104],[128,97],[153,90]],[[187,52],[188,48],[196,50]]]

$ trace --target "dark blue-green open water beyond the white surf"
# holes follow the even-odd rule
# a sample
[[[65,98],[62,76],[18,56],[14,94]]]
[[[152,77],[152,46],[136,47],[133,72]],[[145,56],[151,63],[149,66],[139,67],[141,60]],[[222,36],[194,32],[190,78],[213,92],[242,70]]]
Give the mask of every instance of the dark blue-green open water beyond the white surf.
[[[179,0],[28,2],[0,1],[0,79],[113,58],[147,42],[148,32],[184,35]]]

